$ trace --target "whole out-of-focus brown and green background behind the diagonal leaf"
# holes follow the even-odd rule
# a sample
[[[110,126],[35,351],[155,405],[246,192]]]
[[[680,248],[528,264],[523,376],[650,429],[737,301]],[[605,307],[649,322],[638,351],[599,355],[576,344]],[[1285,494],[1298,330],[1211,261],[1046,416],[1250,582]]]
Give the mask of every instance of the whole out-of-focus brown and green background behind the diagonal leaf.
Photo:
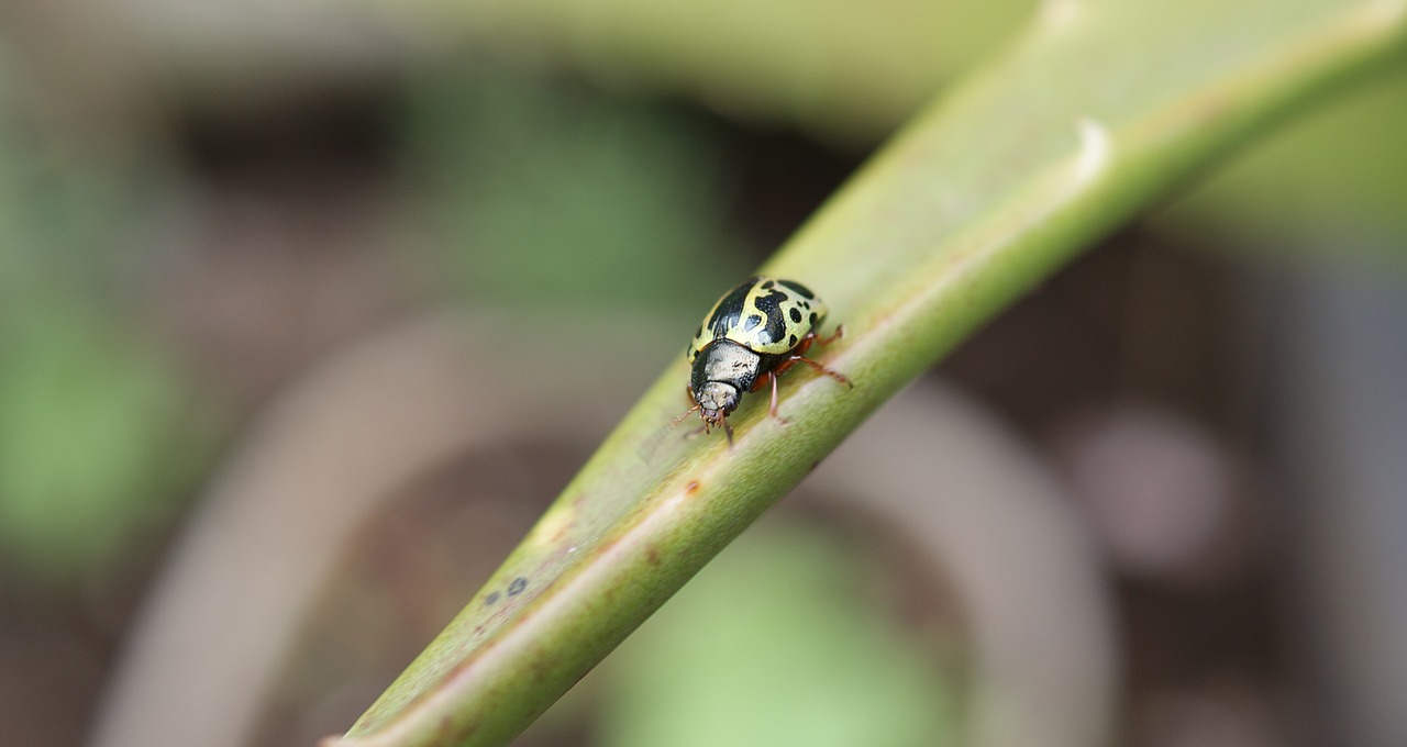
[[[1033,6],[0,3],[0,744],[345,730]],[[521,744],[1407,744],[1404,121],[1090,250]]]

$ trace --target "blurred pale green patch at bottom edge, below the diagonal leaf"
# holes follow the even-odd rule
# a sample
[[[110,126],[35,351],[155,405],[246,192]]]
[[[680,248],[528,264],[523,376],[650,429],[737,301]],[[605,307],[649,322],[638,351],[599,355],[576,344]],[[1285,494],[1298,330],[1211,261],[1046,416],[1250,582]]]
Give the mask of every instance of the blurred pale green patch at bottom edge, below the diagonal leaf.
[[[808,525],[743,535],[611,658],[601,744],[955,744],[957,681],[878,577]]]

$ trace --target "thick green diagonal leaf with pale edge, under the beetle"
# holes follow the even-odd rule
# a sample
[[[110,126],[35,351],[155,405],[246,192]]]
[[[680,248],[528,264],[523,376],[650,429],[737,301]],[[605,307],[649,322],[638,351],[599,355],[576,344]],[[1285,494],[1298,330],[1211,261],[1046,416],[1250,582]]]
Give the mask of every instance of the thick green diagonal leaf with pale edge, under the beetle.
[[[846,324],[822,360],[854,390],[792,373],[789,426],[753,397],[736,447],[677,432],[654,446],[684,407],[684,362],[668,366],[469,606],[328,744],[511,740],[962,336],[1292,104],[1370,68],[1401,44],[1404,15],[1403,0],[1043,6],[765,266]]]

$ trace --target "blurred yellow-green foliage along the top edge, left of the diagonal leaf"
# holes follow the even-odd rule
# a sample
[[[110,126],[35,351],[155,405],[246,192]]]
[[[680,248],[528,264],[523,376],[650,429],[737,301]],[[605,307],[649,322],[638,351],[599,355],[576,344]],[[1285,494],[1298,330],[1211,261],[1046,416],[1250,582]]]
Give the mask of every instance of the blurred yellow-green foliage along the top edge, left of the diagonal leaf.
[[[744,120],[874,142],[989,55],[1033,0],[416,0],[398,28],[464,37],[505,63],[567,68],[605,89],[682,94]]]

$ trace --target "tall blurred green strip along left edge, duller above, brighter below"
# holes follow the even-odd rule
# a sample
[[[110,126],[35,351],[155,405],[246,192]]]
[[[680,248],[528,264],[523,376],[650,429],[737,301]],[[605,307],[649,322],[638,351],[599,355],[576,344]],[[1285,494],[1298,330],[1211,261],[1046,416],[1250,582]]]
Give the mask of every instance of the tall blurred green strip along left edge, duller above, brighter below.
[[[190,383],[132,308],[152,163],[44,131],[4,72],[0,558],[66,582],[122,557],[203,439]]]

